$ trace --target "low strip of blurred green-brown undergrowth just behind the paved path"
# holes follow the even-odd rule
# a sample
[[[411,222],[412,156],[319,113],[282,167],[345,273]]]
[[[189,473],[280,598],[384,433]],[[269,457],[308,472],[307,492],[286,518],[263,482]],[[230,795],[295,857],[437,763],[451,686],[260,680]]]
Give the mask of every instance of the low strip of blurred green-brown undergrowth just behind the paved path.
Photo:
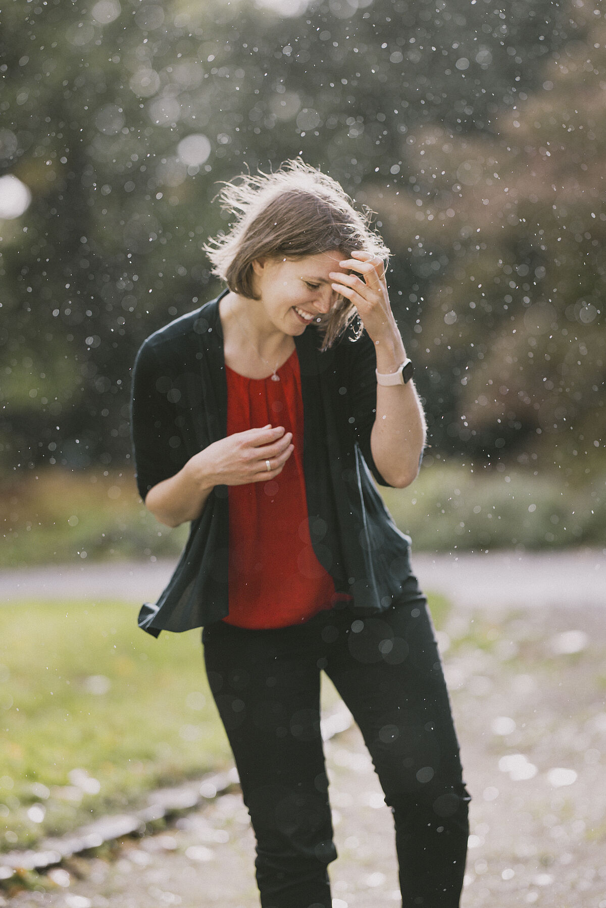
[[[430,454],[412,486],[382,494],[417,550],[602,546],[606,471],[580,479],[501,463],[462,466]],[[176,558],[188,531],[159,524],[128,472],[46,469],[0,486],[0,498],[5,567]]]

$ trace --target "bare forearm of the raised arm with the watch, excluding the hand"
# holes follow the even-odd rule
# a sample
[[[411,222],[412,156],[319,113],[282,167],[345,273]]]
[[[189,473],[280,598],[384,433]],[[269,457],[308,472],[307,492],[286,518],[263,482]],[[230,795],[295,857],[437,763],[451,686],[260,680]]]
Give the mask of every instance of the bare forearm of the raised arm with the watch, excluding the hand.
[[[392,331],[375,342],[377,371],[391,373],[406,359],[400,332]],[[425,419],[412,381],[405,385],[377,385],[376,417],[371,449],[376,468],[392,486],[411,484],[419,471],[425,444]]]

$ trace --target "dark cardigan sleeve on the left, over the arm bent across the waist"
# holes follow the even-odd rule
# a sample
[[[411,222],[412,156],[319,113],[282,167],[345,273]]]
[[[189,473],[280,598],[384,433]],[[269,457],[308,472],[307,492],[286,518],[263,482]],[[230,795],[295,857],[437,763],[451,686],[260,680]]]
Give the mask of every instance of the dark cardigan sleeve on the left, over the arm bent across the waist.
[[[154,345],[144,341],[134,360],[131,433],[141,498],[186,461],[174,406],[173,381],[160,365]],[[175,395],[174,395],[175,396]]]

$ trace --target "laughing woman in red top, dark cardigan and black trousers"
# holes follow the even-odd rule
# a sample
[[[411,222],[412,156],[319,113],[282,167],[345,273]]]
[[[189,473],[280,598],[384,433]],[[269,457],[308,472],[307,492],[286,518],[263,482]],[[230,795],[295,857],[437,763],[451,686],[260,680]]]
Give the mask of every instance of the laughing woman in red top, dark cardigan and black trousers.
[[[227,289],[156,331],[134,368],[139,490],[164,524],[192,522],[140,626],[204,626],[263,908],[331,905],[322,670],[392,807],[402,904],[458,905],[469,797],[410,539],[371,479],[409,485],[424,443],[388,250],[300,161],[222,201],[235,222],[206,252]]]

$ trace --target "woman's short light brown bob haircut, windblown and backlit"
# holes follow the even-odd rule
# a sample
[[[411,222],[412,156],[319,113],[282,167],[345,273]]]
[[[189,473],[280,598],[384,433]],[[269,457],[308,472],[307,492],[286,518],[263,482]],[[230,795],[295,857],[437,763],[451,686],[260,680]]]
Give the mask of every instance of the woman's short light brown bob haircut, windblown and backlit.
[[[332,177],[303,163],[286,161],[273,173],[244,173],[225,183],[217,198],[233,215],[231,229],[204,244],[213,274],[233,293],[257,299],[253,262],[262,258],[302,259],[335,250],[348,256],[364,250],[386,264],[390,251],[371,227],[373,212],[353,202]],[[320,321],[323,350],[332,346],[355,317],[341,297]],[[360,332],[358,332],[359,335]]]

